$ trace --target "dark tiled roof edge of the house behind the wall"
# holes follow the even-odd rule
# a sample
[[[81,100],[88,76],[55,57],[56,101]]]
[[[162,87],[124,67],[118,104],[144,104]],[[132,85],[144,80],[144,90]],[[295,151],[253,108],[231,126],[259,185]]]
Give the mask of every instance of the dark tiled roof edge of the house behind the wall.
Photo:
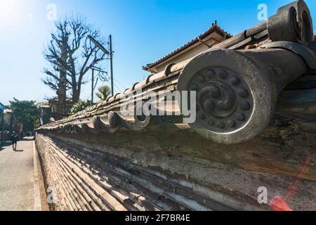
[[[206,30],[206,32],[204,32],[203,34],[200,34],[195,39],[192,39],[191,41],[187,42],[187,44],[185,44],[185,45],[181,46],[180,48],[176,49],[175,51],[169,53],[168,55],[164,56],[163,58],[160,58],[156,62],[147,64],[145,67],[143,67],[143,70],[150,70],[150,68],[153,68],[155,65],[158,65],[159,63],[162,63],[164,60],[167,60],[168,58],[171,58],[172,56],[175,56],[176,54],[178,54],[181,51],[189,48],[190,46],[192,46],[194,44],[197,44],[197,42],[201,41],[202,39],[204,39],[205,37],[209,36],[210,34],[212,34],[215,31],[219,32],[221,35],[223,35],[223,37],[228,37],[228,38],[232,37],[231,34],[228,34],[228,32],[225,32],[223,29],[221,29],[217,25],[217,23],[213,23],[211,25],[211,27],[209,28],[209,30]]]

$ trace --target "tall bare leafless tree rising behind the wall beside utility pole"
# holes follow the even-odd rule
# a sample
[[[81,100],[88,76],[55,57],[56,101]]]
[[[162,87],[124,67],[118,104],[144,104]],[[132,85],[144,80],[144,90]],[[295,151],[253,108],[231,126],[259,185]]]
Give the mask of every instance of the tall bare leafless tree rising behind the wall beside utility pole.
[[[51,42],[43,52],[49,64],[44,68],[46,78],[43,82],[56,92],[61,103],[65,102],[68,90],[72,102],[77,103],[81,85],[87,82],[85,75],[93,65],[105,59],[105,54],[87,36],[104,43],[100,40],[100,31],[86,23],[84,18],[66,17],[55,26]]]

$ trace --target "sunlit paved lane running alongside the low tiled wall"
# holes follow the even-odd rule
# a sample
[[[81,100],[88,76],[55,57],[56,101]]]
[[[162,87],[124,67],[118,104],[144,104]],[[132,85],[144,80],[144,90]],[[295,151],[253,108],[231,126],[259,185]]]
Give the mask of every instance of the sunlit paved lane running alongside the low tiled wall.
[[[41,210],[35,155],[32,140],[19,141],[17,151],[0,147],[1,211]]]

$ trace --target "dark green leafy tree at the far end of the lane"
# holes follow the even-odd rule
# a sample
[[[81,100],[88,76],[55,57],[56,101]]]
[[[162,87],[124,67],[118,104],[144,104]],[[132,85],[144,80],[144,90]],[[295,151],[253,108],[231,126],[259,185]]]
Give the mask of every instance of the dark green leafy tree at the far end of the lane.
[[[39,108],[35,101],[18,101],[13,98],[7,108],[12,111],[15,119],[23,124],[24,131],[32,131],[39,127]]]

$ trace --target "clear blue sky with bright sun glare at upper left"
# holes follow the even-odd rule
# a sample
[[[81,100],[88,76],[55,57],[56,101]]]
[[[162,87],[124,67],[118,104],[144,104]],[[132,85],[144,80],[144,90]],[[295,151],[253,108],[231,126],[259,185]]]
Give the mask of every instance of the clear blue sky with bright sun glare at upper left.
[[[213,23],[237,34],[258,21],[258,5],[267,4],[268,15],[290,0],[1,0],[0,1],[0,102],[44,101],[54,96],[41,83],[45,61],[41,51],[50,40],[53,21],[48,4],[57,6],[60,18],[80,13],[113,36],[115,91],[129,88],[148,75],[142,66],[161,58],[197,37]],[[316,19],[316,1],[306,1]],[[316,20],[315,20],[316,24]],[[315,25],[314,25],[315,26]],[[90,98],[91,84],[82,99]]]

